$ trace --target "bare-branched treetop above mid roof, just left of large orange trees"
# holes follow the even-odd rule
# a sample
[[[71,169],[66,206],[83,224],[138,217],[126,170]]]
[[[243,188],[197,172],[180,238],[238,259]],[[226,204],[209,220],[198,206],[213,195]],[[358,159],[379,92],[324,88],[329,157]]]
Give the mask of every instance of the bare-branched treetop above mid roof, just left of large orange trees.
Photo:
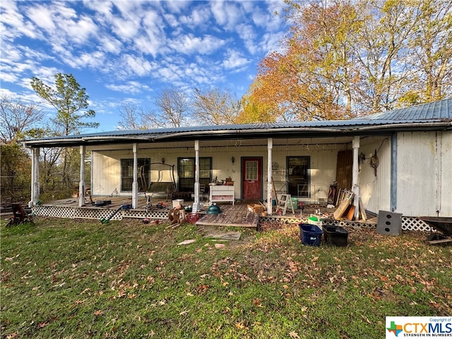
[[[222,125],[236,123],[241,103],[229,91],[215,88],[202,93],[195,88],[193,106],[198,124]]]

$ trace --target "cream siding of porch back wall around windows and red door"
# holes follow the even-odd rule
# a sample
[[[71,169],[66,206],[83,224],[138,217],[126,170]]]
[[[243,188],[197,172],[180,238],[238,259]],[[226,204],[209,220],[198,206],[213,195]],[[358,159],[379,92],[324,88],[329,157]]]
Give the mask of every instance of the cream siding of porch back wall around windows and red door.
[[[311,198],[304,201],[318,201],[319,198],[328,196],[329,185],[335,181],[336,159],[338,150],[344,150],[344,145],[300,145],[300,146],[273,146],[273,162],[279,167],[273,171],[273,180],[278,194],[285,193],[286,159],[288,156],[311,157]],[[242,197],[241,192],[241,157],[262,157],[263,167],[263,198],[266,198],[267,189],[267,148],[266,146],[237,146],[227,147],[203,147],[200,145],[200,157],[212,157],[212,177],[225,179],[231,177],[235,182],[234,194]],[[174,179],[177,182],[177,157],[194,157],[194,148],[169,148],[168,150],[138,149],[138,158],[150,157],[151,162],[160,162],[162,157],[165,163],[174,165]],[[232,164],[232,156],[235,162]],[[93,196],[105,196],[112,194],[117,189],[119,195],[130,196],[130,192],[121,192],[121,159],[133,157],[132,150],[109,150],[93,152]],[[151,182],[171,182],[169,167],[158,165],[151,166]]]

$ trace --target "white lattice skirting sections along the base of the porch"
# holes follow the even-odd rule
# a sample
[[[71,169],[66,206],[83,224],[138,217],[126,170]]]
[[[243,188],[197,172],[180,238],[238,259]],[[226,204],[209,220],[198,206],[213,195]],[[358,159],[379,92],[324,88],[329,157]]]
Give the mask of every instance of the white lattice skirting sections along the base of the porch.
[[[78,208],[70,206],[52,206],[52,205],[35,205],[32,207],[32,213],[42,217],[69,218],[69,219],[100,219],[109,218],[109,220],[122,220],[124,218],[137,219],[158,219],[166,220],[168,218],[168,210],[119,210],[112,216],[116,209],[114,208]],[[305,219],[304,219],[305,220]],[[267,215],[260,217],[259,222],[302,222],[299,217],[290,217],[285,215]],[[376,223],[356,222],[349,220],[323,220],[323,225],[338,225],[342,227],[368,227],[376,228]],[[402,230],[431,232],[432,228],[426,222],[415,217],[402,217]]]

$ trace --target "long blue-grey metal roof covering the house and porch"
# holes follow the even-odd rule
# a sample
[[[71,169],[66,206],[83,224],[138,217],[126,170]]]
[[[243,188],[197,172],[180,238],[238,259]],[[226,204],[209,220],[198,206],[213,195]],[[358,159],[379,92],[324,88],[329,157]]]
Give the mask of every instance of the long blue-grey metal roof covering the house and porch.
[[[152,143],[226,138],[334,137],[452,128],[452,99],[371,114],[350,120],[271,122],[255,124],[182,126],[137,131],[105,131],[22,141],[28,147]]]

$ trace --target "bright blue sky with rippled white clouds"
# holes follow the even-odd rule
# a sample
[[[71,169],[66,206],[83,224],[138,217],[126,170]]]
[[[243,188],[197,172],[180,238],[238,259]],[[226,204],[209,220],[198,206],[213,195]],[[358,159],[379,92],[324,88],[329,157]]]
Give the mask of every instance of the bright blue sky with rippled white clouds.
[[[97,131],[117,128],[121,102],[154,108],[162,90],[242,97],[258,62],[287,32],[283,1],[0,1],[0,95],[42,104],[32,76],[71,73]]]

